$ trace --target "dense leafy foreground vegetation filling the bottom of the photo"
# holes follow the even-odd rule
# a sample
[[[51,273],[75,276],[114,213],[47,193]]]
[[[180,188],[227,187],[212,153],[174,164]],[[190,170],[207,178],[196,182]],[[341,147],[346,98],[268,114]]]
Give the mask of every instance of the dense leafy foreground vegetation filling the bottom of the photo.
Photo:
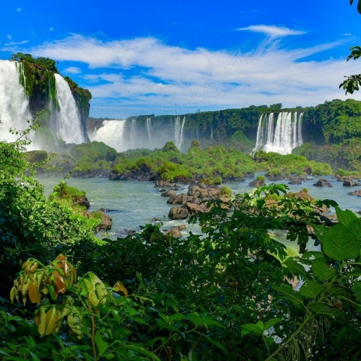
[[[23,154],[27,133],[0,143],[3,360],[360,359],[361,220],[352,212],[319,201],[336,207],[332,225],[271,185],[235,196],[231,212],[215,203],[194,216],[203,236],[177,240],[145,225],[98,240],[95,220],[57,201],[64,182],[47,200],[25,175],[39,166]],[[287,229],[300,252],[268,229]],[[309,236],[318,251],[307,251]]]

